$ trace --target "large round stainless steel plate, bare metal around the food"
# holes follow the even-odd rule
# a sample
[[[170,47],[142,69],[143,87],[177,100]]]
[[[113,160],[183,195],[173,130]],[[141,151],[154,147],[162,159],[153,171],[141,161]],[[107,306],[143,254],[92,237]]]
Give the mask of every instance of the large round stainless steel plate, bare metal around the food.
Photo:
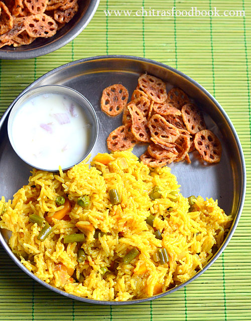
[[[242,149],[235,129],[219,103],[193,79],[164,64],[131,56],[101,56],[81,59],[56,68],[33,82],[26,90],[41,85],[60,84],[71,87],[82,93],[93,105],[98,121],[99,134],[92,150],[92,155],[107,152],[106,138],[109,133],[121,125],[122,116],[110,118],[100,110],[102,90],[114,83],[122,83],[129,89],[130,96],[137,86],[141,73],[147,71],[167,82],[167,87],[179,86],[200,106],[204,112],[207,127],[211,129],[222,143],[222,158],[219,164],[205,165],[194,152],[192,164],[185,162],[169,165],[176,175],[184,196],[201,195],[218,199],[219,206],[234,217],[230,231],[221,248],[210,262],[187,282],[159,295],[141,300],[126,302],[97,301],[74,296],[41,281],[29,272],[10,250],[8,233],[0,233],[0,241],[14,262],[33,279],[47,288],[65,296],[99,304],[130,304],[143,302],[172,293],[202,274],[221,254],[229,242],[238,220],[245,195],[245,164]],[[14,101],[15,102],[15,101]],[[13,104],[12,104],[13,105]],[[7,120],[12,105],[0,121],[0,195],[12,198],[13,194],[28,183],[31,168],[24,163],[12,149],[7,135]],[[136,146],[134,153],[138,156],[146,146]]]

